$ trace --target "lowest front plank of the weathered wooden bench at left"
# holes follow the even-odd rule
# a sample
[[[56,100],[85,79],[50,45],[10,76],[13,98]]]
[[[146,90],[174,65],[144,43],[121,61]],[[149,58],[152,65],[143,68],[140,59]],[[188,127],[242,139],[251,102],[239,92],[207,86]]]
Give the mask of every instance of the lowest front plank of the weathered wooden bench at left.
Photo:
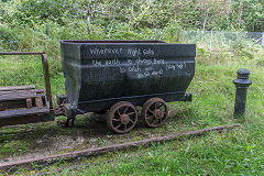
[[[48,113],[50,110],[45,108],[30,108],[30,109],[15,109],[8,111],[0,111],[0,119],[13,118],[13,117],[25,117],[25,116],[37,116]]]

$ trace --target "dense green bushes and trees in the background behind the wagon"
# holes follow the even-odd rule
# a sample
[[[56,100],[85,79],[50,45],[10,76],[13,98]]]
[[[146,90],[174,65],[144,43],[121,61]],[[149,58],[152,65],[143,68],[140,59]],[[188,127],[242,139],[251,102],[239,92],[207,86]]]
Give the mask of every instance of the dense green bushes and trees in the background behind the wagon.
[[[183,30],[263,31],[262,0],[2,0],[0,50],[59,55],[61,40],[178,41]]]

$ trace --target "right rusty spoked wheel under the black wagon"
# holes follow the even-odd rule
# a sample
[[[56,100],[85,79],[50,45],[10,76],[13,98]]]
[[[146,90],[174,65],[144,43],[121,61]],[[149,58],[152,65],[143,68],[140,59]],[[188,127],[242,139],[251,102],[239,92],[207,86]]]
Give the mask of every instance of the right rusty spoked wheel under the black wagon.
[[[147,127],[161,127],[168,118],[167,103],[161,98],[152,98],[143,105],[141,117]]]

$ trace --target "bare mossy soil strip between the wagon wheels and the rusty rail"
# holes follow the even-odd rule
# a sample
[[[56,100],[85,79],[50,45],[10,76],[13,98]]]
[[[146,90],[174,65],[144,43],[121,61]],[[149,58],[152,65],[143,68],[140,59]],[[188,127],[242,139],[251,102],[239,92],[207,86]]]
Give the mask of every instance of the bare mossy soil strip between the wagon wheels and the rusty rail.
[[[28,148],[4,154],[0,164],[187,131],[186,127],[177,122],[180,118],[170,117],[166,124],[157,129],[145,128],[142,122],[138,122],[131,132],[114,134],[102,120],[106,114],[98,116],[89,113],[78,117],[74,128],[59,127],[56,122],[8,127],[9,132],[3,130],[1,133],[2,141],[22,141],[28,144]]]

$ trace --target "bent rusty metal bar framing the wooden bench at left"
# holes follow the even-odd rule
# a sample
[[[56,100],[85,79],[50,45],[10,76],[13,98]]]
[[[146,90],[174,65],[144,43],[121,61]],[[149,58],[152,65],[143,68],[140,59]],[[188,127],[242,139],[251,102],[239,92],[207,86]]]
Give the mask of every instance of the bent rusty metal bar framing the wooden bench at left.
[[[50,103],[50,112],[53,114],[54,108],[53,108],[53,100],[52,100],[52,89],[51,89],[48,62],[47,62],[46,53],[44,52],[0,52],[0,55],[41,55],[42,56],[46,97]]]

